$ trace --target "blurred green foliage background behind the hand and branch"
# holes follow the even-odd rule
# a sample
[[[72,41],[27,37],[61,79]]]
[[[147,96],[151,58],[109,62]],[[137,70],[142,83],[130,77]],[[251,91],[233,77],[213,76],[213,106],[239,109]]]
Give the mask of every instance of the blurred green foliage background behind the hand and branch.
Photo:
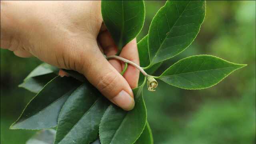
[[[139,41],[165,1],[146,1],[146,21]],[[248,64],[206,90],[183,90],[160,82],[156,92],[145,90],[148,121],[155,144],[255,144],[256,2],[208,1],[206,18],[196,40],[174,62],[196,54],[211,54]],[[9,130],[35,94],[18,84],[41,62],[0,51],[1,144],[24,144],[36,131]]]

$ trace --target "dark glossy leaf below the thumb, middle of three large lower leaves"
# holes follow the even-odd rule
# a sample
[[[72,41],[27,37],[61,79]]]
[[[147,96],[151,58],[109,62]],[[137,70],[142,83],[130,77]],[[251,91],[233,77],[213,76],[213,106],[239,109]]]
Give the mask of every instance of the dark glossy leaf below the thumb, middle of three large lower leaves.
[[[89,144],[98,138],[100,120],[109,106],[89,82],[68,98],[58,118],[55,144]]]

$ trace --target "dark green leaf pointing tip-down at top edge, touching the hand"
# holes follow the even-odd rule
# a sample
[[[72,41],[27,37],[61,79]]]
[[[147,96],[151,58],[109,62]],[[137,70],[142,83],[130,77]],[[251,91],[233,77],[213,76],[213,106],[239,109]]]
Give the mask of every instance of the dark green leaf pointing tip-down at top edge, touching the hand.
[[[142,0],[102,0],[102,18],[119,52],[142,30],[145,7]]]

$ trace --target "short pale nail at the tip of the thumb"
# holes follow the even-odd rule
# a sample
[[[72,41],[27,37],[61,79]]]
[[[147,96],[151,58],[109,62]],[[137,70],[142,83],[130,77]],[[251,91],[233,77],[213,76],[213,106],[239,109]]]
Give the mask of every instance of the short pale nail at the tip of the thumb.
[[[134,108],[134,99],[124,90],[119,92],[112,100],[124,110],[132,110]]]

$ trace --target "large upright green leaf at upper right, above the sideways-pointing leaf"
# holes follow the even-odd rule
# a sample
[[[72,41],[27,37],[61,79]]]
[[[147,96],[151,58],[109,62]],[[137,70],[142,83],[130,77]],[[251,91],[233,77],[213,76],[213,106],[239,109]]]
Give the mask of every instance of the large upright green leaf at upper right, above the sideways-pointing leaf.
[[[172,0],[154,16],[148,32],[150,65],[172,58],[196,38],[204,21],[206,2]]]

